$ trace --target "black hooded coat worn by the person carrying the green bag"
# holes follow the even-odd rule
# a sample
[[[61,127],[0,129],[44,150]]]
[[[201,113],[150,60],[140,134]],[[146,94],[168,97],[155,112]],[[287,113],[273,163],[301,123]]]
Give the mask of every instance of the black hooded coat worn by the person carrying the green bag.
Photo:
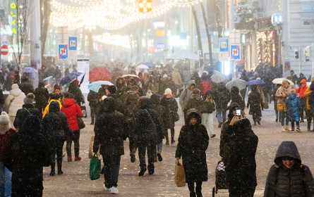
[[[124,155],[123,140],[127,137],[126,119],[114,109],[114,98],[101,102],[102,112],[95,122],[95,141],[93,151],[101,155]]]

